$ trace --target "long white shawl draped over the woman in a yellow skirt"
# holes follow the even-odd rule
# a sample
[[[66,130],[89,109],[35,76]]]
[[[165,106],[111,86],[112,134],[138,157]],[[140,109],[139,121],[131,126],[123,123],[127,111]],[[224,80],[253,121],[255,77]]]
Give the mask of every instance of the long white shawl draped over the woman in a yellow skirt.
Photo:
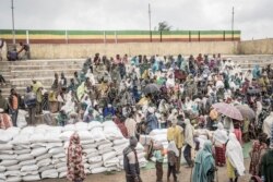
[[[245,166],[244,166],[244,155],[240,143],[236,138],[234,133],[229,133],[229,141],[226,145],[226,157],[229,159],[233,167],[238,171],[239,175],[244,175]]]

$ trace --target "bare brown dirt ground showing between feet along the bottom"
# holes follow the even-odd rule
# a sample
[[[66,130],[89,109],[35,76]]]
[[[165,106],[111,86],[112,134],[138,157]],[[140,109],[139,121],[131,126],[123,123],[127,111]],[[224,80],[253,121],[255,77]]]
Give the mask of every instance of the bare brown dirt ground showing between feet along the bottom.
[[[245,167],[248,170],[249,167],[249,159],[245,160]],[[178,181],[179,182],[190,182],[190,173],[191,173],[191,169],[185,168],[185,166],[181,167],[181,173],[178,174]],[[167,169],[164,169],[164,182],[167,182]],[[228,182],[227,179],[227,172],[226,172],[226,168],[222,167],[218,168],[218,182]],[[151,169],[151,170],[141,170],[141,178],[143,180],[143,182],[156,182],[156,177],[155,177],[155,169]],[[250,175],[247,174],[245,177],[239,178],[238,182],[249,182]],[[170,178],[170,180],[173,180]],[[48,180],[43,180],[41,182],[67,182],[68,180],[66,179],[48,179]],[[104,173],[99,173],[99,174],[90,174],[87,175],[87,178],[85,179],[84,182],[126,182],[124,180],[124,172],[117,172],[114,174],[104,174]],[[217,182],[217,181],[216,181]]]

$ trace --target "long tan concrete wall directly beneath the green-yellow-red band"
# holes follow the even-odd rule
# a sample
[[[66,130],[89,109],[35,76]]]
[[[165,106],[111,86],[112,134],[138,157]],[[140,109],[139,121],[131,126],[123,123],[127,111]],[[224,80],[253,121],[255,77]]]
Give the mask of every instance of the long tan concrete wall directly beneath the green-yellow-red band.
[[[33,59],[86,58],[96,52],[108,57],[117,53],[135,54],[198,54],[237,53],[237,41],[203,43],[127,43],[127,44],[51,44],[31,45]]]

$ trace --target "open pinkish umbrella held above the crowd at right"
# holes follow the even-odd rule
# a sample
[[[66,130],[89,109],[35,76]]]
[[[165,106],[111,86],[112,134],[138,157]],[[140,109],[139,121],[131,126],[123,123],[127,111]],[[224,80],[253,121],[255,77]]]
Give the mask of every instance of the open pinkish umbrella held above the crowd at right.
[[[217,102],[212,105],[214,109],[216,109],[217,112],[223,113],[226,117],[229,117],[235,120],[244,120],[239,109],[237,109],[235,106],[225,104],[225,102]]]

